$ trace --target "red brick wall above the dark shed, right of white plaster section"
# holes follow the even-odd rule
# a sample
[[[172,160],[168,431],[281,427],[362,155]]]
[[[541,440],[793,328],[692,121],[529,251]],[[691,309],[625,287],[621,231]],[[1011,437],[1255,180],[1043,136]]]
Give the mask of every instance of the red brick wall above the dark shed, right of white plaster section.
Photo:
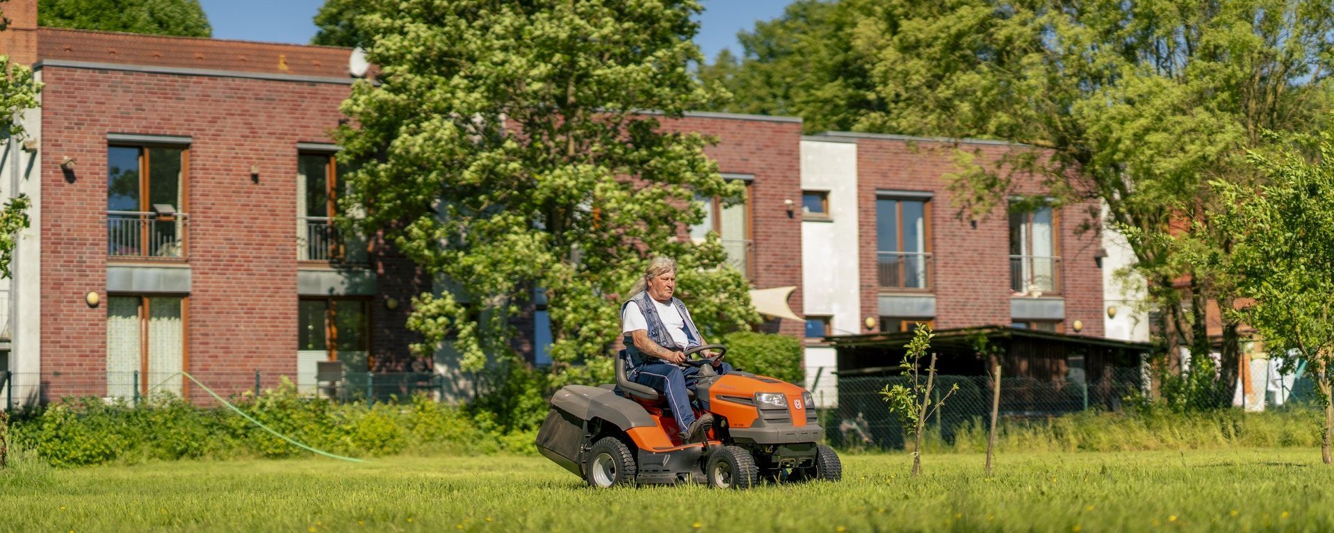
[[[1005,151],[996,144],[963,144],[980,151],[978,163],[994,163]],[[948,173],[958,172],[952,148],[943,143],[858,139],[858,215],[860,217],[862,314],[878,317],[880,289],[876,277],[875,200],[880,191],[931,192],[930,247],[936,298],[935,328],[1010,324],[1010,220],[1003,205],[978,219],[976,227],[958,216],[948,191]],[[1022,177],[1017,180],[1023,180]],[[1017,192],[1041,193],[1037,179],[1017,183]],[[1074,320],[1081,334],[1102,336],[1102,273],[1094,261],[1097,232],[1075,235],[1089,221],[1087,207],[1066,207],[1059,213],[1066,333]],[[863,325],[864,328],[864,325]],[[870,332],[870,330],[864,330]]]

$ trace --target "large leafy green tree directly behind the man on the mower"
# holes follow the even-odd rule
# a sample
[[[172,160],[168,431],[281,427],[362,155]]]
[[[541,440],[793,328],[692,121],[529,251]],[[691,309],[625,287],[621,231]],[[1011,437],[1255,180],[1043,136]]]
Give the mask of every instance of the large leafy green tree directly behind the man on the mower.
[[[510,352],[512,320],[546,292],[559,380],[604,377],[619,304],[650,256],[680,264],[679,293],[708,338],[758,321],[748,284],[694,195],[736,197],[708,140],[666,131],[707,99],[687,69],[695,0],[370,1],[375,84],[354,85],[339,131],[352,224],[383,231],[442,280],[408,325],[456,336],[468,369]],[[646,113],[644,109],[655,109]],[[351,212],[351,209],[350,209]],[[579,362],[587,362],[580,365]],[[552,382],[552,385],[559,385]]]

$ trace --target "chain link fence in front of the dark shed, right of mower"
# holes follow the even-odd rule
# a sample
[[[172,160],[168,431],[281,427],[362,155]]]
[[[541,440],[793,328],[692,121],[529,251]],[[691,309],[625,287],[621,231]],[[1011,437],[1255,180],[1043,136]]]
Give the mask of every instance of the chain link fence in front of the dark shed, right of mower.
[[[926,377],[922,377],[923,384]],[[823,409],[820,422],[827,441],[839,448],[902,449],[910,438],[903,425],[890,413],[880,396],[886,386],[911,385],[904,376],[840,376],[838,406]],[[1126,398],[1143,393],[1145,380],[1138,368],[1113,368],[1110,376],[1097,382],[1079,378],[1039,381],[1027,377],[1002,377],[999,420],[1039,420],[1083,410],[1119,412]],[[951,389],[958,386],[954,393]],[[948,394],[948,397],[946,397]],[[944,405],[926,421],[926,434],[954,442],[964,426],[990,426],[994,382],[986,376],[936,376],[934,400]],[[832,402],[827,402],[832,404]]]

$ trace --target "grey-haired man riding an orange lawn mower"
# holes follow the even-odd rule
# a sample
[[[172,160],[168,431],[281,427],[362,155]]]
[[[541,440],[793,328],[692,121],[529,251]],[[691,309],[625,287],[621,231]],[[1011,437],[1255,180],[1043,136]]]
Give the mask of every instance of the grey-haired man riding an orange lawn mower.
[[[732,370],[722,362],[726,346],[699,344],[690,313],[671,297],[675,263],[655,259],[646,281],[647,290],[632,290],[623,306],[630,318],[616,384],[558,390],[538,432],[538,450],[598,488],[838,481],[842,464],[818,444],[823,430],[811,394]],[[636,320],[638,309],[647,312]]]

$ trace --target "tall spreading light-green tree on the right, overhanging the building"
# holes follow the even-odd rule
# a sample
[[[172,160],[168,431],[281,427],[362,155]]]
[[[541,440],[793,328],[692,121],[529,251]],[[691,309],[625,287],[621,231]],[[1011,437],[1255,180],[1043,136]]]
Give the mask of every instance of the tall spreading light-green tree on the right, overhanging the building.
[[[860,0],[847,0],[860,1]],[[1195,361],[1211,352],[1206,309],[1231,309],[1206,251],[1231,235],[1210,219],[1221,180],[1257,179],[1246,148],[1266,129],[1310,136],[1330,116],[1334,9],[1327,0],[908,0],[875,3],[858,49],[883,111],[858,129],[1007,139],[1033,147],[1007,171],[958,175],[964,209],[1011,195],[1011,171],[1037,172],[1063,203],[1098,200],[1122,229],[1135,270]],[[1217,390],[1239,362],[1226,314]]]

